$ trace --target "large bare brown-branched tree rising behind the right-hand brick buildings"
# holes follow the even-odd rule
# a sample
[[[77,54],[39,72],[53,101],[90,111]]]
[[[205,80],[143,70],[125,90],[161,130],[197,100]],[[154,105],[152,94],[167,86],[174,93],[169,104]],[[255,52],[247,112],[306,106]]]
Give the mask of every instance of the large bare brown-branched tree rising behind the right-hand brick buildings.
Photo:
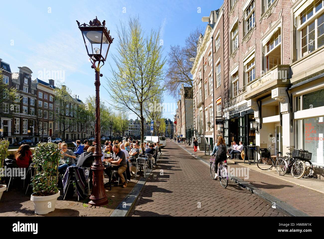
[[[179,97],[182,84],[184,86],[193,86],[190,73],[193,62],[190,61],[190,58],[196,57],[199,36],[202,31],[201,27],[191,31],[185,40],[184,46],[170,46],[165,85],[168,93],[175,98]]]

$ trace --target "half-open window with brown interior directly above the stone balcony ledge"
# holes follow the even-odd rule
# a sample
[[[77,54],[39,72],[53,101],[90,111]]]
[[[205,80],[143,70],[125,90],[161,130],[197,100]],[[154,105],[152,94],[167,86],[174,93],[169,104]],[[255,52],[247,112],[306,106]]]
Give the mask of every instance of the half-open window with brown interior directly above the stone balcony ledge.
[[[263,46],[265,71],[281,64],[281,29],[279,28]]]

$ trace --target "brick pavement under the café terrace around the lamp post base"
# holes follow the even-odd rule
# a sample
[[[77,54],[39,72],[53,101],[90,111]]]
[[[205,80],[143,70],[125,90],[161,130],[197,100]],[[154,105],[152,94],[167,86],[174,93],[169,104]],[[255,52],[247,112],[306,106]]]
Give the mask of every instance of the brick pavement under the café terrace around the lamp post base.
[[[106,175],[105,175],[106,176]],[[106,176],[107,177],[107,176]],[[128,181],[127,188],[122,188],[112,184],[111,191],[105,188],[106,195],[108,197],[108,204],[100,207],[90,206],[87,199],[80,199],[77,201],[77,195],[69,200],[62,200],[63,189],[60,189],[61,196],[57,199],[55,210],[45,215],[37,215],[34,213],[33,202],[30,201],[31,190],[25,195],[26,186],[19,187],[20,182],[15,182],[13,186],[10,186],[9,192],[4,192],[0,201],[0,217],[4,216],[110,216],[116,207],[129,195],[133,190],[141,176],[131,177],[131,182]],[[108,178],[105,178],[105,182],[108,182]],[[91,193],[91,190],[90,190]]]

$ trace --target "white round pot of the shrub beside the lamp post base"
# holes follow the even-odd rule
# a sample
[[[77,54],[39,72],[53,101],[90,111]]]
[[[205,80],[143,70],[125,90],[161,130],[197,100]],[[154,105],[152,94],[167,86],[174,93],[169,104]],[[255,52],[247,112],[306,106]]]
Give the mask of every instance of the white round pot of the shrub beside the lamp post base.
[[[30,200],[34,203],[35,213],[38,215],[42,215],[54,211],[56,200],[59,196],[60,191],[57,194],[42,197],[36,197],[32,194],[30,196]]]

